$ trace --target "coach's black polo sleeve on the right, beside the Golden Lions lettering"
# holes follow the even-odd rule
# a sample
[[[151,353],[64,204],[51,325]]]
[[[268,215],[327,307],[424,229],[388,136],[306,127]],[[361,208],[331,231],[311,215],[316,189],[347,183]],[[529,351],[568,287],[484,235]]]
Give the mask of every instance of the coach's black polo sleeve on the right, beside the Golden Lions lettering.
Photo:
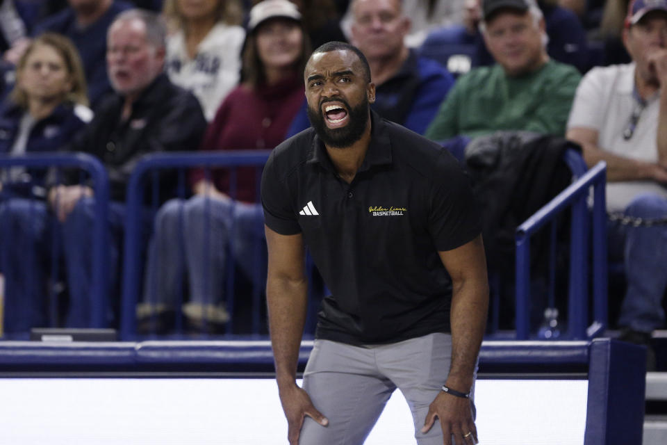
[[[479,204],[459,163],[443,152],[431,192],[429,232],[438,251],[452,250],[481,233]]]

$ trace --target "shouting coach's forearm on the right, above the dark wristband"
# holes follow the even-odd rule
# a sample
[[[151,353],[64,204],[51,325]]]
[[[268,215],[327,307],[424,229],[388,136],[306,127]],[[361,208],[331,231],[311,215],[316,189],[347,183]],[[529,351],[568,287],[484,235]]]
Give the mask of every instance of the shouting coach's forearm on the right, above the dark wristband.
[[[477,355],[486,328],[487,311],[486,280],[470,280],[454,286],[450,314],[452,366],[447,376],[447,386],[456,391],[468,392],[472,387]]]

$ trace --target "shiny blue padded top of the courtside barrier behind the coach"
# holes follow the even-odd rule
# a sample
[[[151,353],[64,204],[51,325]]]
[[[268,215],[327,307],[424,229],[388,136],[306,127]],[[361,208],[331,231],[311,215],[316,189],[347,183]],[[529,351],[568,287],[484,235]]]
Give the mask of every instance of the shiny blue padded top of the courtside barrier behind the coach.
[[[602,340],[608,341],[608,340]],[[479,355],[480,372],[489,366],[544,364],[554,372],[562,366],[587,365],[590,357],[588,341],[484,341]],[[299,350],[299,366],[304,366],[313,348],[313,341],[302,341]],[[199,365],[202,371],[208,366],[231,364],[242,372],[247,366],[264,364],[273,366],[271,343],[268,340],[231,341],[142,341],[123,342],[56,342],[56,341],[0,341],[0,372],[8,364],[40,364],[42,371],[49,365],[79,366],[117,364],[119,354],[122,363],[139,367],[154,365]],[[81,360],[83,359],[83,363]]]

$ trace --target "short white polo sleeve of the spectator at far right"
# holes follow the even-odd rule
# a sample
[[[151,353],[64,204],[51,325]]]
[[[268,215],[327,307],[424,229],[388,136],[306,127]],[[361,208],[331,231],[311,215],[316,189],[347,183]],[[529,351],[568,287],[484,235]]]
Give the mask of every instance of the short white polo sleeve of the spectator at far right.
[[[600,68],[593,68],[579,83],[570,110],[568,130],[577,127],[598,130],[602,127],[605,113],[600,113],[600,102],[606,97],[604,91],[609,90],[609,83],[604,82],[600,74]]]

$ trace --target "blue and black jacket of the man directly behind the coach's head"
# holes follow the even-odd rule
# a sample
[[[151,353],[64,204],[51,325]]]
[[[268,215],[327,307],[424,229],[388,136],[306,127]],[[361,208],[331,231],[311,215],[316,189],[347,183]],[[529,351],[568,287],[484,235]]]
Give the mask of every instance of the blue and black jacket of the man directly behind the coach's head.
[[[375,103],[371,107],[382,118],[423,134],[453,85],[454,78],[445,68],[411,50],[401,69],[375,87]],[[311,126],[306,107],[304,100],[288,137]]]

